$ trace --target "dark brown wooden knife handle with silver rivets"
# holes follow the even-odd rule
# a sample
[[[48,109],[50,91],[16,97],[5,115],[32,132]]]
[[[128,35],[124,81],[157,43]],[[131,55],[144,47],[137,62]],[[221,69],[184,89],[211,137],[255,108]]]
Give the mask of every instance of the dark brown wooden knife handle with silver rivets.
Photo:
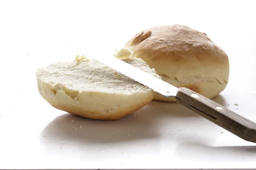
[[[178,89],[176,101],[236,136],[256,143],[256,123],[224,106],[188,88]]]

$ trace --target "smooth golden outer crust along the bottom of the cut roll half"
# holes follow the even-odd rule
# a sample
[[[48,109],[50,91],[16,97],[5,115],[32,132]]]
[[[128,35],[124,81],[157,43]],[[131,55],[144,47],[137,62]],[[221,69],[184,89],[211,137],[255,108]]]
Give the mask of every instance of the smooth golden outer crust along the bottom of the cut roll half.
[[[42,85],[43,84],[43,85]],[[41,86],[42,85],[42,86]],[[89,108],[85,107],[84,105],[80,105],[79,100],[72,99],[69,95],[67,95],[64,91],[51,91],[51,88],[49,88],[50,85],[45,85],[44,82],[42,82],[41,79],[38,79],[38,90],[40,91],[40,94],[43,96],[43,98],[50,104],[52,107],[57,108],[61,111],[66,111],[67,113],[76,114],[78,116],[86,117],[89,119],[100,119],[100,120],[109,120],[114,121],[121,119],[125,116],[127,116],[130,113],[133,113],[140,108],[143,108],[145,105],[147,105],[154,97],[154,92],[143,96],[138,97],[134,96],[132,98],[133,101],[141,101],[136,102],[134,101],[132,105],[127,105],[124,107],[121,107],[115,111],[110,111],[108,113],[100,112],[96,110],[90,110]],[[114,94],[113,94],[114,95]],[[90,95],[84,95],[84,98],[90,99]],[[111,97],[111,96],[109,96]],[[126,96],[128,98],[128,96]],[[125,97],[124,97],[125,98]]]

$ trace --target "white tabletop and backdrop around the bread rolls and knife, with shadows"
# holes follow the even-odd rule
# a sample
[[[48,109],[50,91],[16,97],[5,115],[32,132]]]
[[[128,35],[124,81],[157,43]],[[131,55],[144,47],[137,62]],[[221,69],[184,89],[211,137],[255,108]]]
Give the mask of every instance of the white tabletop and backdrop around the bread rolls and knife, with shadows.
[[[143,28],[184,24],[230,57],[229,84],[214,100],[256,122],[255,16],[249,1],[1,1],[0,169],[256,168],[256,144],[181,105],[84,119],[52,108],[35,79],[38,67],[77,54],[54,35],[111,54]]]

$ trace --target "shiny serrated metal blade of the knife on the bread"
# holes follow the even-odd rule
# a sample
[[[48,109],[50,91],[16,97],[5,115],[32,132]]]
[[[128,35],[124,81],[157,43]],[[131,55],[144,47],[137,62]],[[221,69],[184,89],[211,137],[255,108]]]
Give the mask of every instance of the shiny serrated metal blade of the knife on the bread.
[[[66,42],[67,45],[70,45]],[[73,45],[70,45],[72,48],[76,49],[77,51],[80,51],[79,49],[75,48]],[[153,89],[155,92],[162,94],[166,97],[175,97],[177,93],[177,89],[175,86],[158,79],[157,77],[154,77],[139,68],[136,68],[116,57],[100,57],[97,55],[89,56],[85,54],[84,52],[80,51],[82,54],[86,55],[87,57],[90,57],[92,59],[95,59],[102,64],[113,68],[114,70],[120,72],[121,74],[124,74],[127,77],[130,77],[131,79],[134,79],[137,82],[140,82],[141,84],[147,86],[148,88]]]

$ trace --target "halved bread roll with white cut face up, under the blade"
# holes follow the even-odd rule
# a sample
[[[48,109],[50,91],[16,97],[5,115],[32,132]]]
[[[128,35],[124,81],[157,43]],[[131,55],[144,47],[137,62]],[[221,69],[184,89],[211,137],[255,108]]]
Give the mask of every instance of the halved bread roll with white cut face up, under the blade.
[[[122,59],[160,78],[138,58]],[[137,111],[155,92],[96,60],[77,56],[38,69],[38,91],[54,108],[90,119],[117,120]]]

